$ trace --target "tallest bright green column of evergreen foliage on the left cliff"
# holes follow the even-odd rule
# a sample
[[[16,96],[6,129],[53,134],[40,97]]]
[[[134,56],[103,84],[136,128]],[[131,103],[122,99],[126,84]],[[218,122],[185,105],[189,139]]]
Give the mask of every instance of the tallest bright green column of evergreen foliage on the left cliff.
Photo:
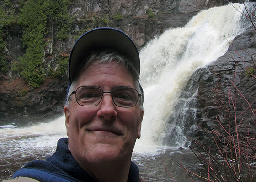
[[[48,4],[44,0],[30,0],[21,8],[19,23],[24,27],[22,42],[26,53],[21,58],[25,78],[29,86],[40,87],[44,81],[43,48],[47,33]]]

